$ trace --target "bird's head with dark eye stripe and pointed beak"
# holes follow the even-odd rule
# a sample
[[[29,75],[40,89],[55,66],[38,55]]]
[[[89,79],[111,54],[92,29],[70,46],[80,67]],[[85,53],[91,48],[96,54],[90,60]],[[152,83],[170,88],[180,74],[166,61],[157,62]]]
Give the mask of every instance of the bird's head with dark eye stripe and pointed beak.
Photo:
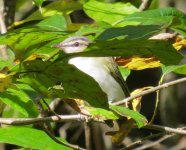
[[[60,48],[65,53],[77,53],[83,52],[89,43],[90,40],[85,36],[73,36],[67,38],[59,44],[54,45],[53,47]]]

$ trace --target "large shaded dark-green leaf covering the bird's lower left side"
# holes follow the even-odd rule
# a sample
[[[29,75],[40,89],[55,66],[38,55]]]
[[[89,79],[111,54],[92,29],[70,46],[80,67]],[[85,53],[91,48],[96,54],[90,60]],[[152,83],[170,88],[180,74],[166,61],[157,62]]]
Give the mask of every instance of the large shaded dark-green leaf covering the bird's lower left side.
[[[79,98],[93,107],[108,109],[107,96],[98,83],[65,60],[55,63],[41,60],[24,62],[22,69],[25,73],[21,81],[27,78],[25,83],[34,89],[44,89],[44,92],[40,91],[43,96]],[[45,93],[46,89],[49,89],[48,93]]]

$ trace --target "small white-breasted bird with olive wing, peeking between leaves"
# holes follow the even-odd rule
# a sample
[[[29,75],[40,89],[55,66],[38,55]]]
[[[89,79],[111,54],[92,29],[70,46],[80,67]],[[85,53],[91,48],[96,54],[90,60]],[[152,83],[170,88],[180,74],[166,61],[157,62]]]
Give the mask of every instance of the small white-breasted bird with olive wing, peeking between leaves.
[[[85,36],[73,36],[53,47],[60,48],[65,53],[78,53],[83,52],[90,42]],[[129,96],[125,81],[112,57],[76,56],[70,58],[68,63],[91,76],[107,94],[110,103]]]

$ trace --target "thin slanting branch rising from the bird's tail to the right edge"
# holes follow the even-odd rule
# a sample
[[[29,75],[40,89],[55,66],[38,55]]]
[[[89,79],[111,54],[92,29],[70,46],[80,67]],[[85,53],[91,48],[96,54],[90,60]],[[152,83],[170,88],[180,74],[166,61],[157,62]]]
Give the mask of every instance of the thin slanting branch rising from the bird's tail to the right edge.
[[[114,102],[114,103],[112,103],[112,105],[122,105],[122,104],[125,104],[125,103],[129,102],[129,101],[132,101],[135,98],[138,98],[138,97],[141,97],[141,96],[144,96],[144,95],[156,92],[156,91],[158,91],[160,89],[167,88],[169,86],[172,86],[172,85],[175,85],[175,84],[179,84],[179,83],[183,83],[183,82],[186,82],[186,77],[185,78],[181,78],[181,79],[177,79],[177,80],[174,80],[174,81],[171,81],[171,82],[164,83],[162,85],[156,86],[156,87],[151,88],[149,90],[145,90],[145,91],[143,91],[143,92],[141,92],[139,94],[127,97],[124,100],[121,100],[121,101],[118,101],[118,102]]]

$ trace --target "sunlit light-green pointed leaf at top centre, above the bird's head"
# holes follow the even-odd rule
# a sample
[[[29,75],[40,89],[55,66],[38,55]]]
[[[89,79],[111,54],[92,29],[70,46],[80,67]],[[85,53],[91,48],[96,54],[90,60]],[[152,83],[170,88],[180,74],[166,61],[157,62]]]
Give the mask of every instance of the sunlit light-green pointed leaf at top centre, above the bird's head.
[[[91,0],[83,5],[85,13],[97,21],[104,21],[109,24],[114,24],[123,17],[137,12],[138,9],[130,3],[104,3],[96,0]]]

